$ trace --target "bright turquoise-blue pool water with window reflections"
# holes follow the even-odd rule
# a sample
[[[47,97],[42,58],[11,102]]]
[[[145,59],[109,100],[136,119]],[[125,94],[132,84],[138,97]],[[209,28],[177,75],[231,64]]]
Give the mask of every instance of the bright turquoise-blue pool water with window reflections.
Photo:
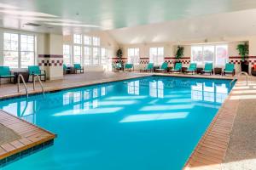
[[[144,77],[9,99],[0,108],[58,134],[4,170],[182,169],[230,81]]]

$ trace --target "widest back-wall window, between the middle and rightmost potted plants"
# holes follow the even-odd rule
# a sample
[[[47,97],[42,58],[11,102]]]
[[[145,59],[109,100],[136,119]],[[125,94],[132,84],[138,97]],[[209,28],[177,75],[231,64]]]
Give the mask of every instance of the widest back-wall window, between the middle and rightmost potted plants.
[[[225,65],[228,62],[228,45],[201,45],[191,47],[191,60],[199,65],[212,62],[214,65]]]

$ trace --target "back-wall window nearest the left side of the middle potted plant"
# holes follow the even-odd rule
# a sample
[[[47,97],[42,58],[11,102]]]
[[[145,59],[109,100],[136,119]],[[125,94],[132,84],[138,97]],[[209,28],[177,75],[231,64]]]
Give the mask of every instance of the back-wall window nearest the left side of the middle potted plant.
[[[164,48],[150,48],[149,62],[155,65],[161,65],[164,62]]]

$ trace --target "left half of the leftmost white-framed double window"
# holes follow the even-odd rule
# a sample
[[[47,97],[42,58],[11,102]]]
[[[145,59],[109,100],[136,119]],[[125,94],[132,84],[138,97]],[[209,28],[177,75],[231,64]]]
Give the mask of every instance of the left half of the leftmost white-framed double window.
[[[3,35],[3,65],[11,68],[19,67],[19,37],[18,34]]]

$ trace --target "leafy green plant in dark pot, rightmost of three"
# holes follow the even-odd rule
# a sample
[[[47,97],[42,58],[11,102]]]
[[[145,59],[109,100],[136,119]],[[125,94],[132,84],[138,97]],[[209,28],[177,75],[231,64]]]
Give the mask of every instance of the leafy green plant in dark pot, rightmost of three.
[[[237,45],[236,49],[241,56],[241,71],[245,71],[248,73],[249,63],[247,62],[247,56],[249,54],[249,45],[247,42],[240,43]]]

